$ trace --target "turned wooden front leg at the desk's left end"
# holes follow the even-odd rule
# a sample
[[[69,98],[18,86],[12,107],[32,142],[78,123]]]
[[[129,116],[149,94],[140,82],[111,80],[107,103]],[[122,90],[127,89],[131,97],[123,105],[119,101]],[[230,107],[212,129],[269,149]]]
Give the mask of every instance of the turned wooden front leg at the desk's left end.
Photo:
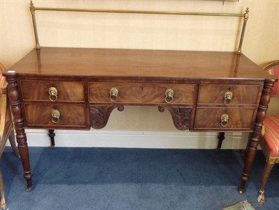
[[[20,104],[19,92],[17,90],[17,78],[15,72],[5,72],[6,81],[8,82],[8,97],[10,99],[10,108],[13,113],[13,121],[15,125],[15,132],[18,144],[18,150],[22,161],[24,170],[24,178],[27,180],[26,191],[32,188],[32,172],[29,162],[29,150],[27,145],[27,136],[23,128],[24,122],[22,118],[22,107]]]

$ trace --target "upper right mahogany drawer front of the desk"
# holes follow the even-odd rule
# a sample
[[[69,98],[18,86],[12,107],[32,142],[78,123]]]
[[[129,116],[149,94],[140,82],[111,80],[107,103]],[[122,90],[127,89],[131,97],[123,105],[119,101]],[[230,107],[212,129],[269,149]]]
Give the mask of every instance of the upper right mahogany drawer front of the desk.
[[[231,105],[255,105],[260,86],[256,85],[200,85],[197,104],[225,104],[225,93],[232,92]]]

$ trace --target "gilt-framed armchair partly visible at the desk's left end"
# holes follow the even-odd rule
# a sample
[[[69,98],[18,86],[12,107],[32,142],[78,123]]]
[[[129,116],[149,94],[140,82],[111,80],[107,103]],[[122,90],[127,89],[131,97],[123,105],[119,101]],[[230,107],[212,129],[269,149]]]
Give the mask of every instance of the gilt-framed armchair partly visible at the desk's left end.
[[[0,157],[3,153],[4,147],[6,145],[7,140],[10,140],[10,145],[12,146],[15,155],[20,157],[20,154],[15,145],[15,133],[13,127],[13,120],[11,118],[10,106],[8,104],[8,99],[6,95],[6,79],[2,76],[2,71],[5,70],[5,67],[0,63],[0,116],[1,116],[1,124],[0,124]],[[0,209],[6,209],[7,204],[5,201],[5,192],[4,192],[4,184],[3,184],[3,175],[0,169],[0,191],[1,191],[1,202]]]

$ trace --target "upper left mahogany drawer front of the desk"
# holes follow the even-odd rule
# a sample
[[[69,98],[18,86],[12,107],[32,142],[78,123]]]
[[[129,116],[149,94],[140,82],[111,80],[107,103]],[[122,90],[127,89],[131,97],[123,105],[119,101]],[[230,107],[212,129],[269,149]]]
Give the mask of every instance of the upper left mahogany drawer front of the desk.
[[[56,88],[56,102],[84,102],[84,83],[77,81],[20,81],[23,100],[49,101],[51,87]]]

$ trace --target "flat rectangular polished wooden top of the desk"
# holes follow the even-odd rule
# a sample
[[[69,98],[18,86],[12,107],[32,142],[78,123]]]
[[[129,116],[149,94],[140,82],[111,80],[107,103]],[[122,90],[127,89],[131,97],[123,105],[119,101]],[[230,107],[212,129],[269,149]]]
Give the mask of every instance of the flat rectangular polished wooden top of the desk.
[[[145,49],[33,49],[9,70],[22,76],[274,79],[243,54]]]

